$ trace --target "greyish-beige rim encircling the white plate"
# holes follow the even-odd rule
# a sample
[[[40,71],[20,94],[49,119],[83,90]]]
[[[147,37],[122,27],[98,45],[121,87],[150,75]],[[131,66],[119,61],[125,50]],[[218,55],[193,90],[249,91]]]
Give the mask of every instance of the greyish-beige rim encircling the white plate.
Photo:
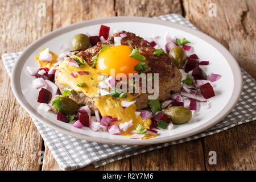
[[[234,88],[232,92],[232,96],[230,97],[228,103],[224,107],[223,110],[221,110],[218,114],[216,114],[212,119],[205,122],[203,125],[200,125],[198,127],[195,127],[194,129],[186,131],[186,133],[180,133],[175,134],[172,136],[167,136],[164,138],[154,138],[154,140],[127,140],[127,139],[113,139],[110,140],[109,138],[100,138],[100,137],[92,137],[89,135],[79,134],[75,133],[73,131],[69,131],[67,129],[64,129],[61,126],[56,125],[52,121],[50,121],[47,118],[44,118],[42,115],[38,114],[38,112],[32,108],[31,105],[28,104],[28,102],[25,100],[22,90],[20,88],[20,73],[22,71],[24,63],[27,61],[28,57],[32,54],[32,52],[35,51],[37,48],[36,46],[38,44],[43,44],[48,42],[48,40],[51,40],[52,38],[55,38],[56,36],[59,36],[61,34],[65,34],[66,32],[76,30],[78,28],[86,27],[86,26],[92,26],[94,24],[102,24],[104,23],[115,23],[115,22],[141,22],[141,23],[152,23],[152,24],[158,24],[162,26],[172,27],[176,28],[181,31],[188,32],[189,34],[192,34],[196,36],[197,38],[203,39],[207,41],[211,46],[217,49],[218,52],[221,53],[222,56],[225,57],[226,61],[228,61],[228,64],[230,68],[232,69],[233,78],[234,78]],[[17,83],[17,81],[19,81]],[[144,145],[144,144],[157,144],[157,143],[165,143],[165,142],[171,142],[178,139],[183,139],[186,137],[191,137],[192,135],[198,134],[202,131],[207,130],[209,127],[216,125],[218,122],[220,122],[222,119],[226,117],[230,113],[230,111],[236,106],[238,100],[240,99],[241,92],[242,92],[242,73],[241,68],[239,67],[237,61],[234,59],[234,57],[231,55],[231,53],[226,49],[222,44],[218,43],[217,40],[211,38],[207,34],[204,34],[203,32],[199,30],[195,30],[193,28],[183,26],[178,23],[169,22],[166,20],[160,20],[155,18],[146,18],[146,17],[140,17],[140,16],[112,16],[108,18],[98,18],[98,19],[92,19],[92,20],[85,20],[82,22],[70,24],[68,26],[59,28],[55,31],[49,32],[48,34],[42,36],[42,38],[39,38],[35,40],[35,42],[31,43],[30,46],[28,46],[22,54],[18,57],[18,60],[15,61],[13,70],[11,72],[11,88],[13,89],[14,96],[16,97],[16,100],[18,100],[19,104],[28,112],[28,114],[32,115],[35,119],[42,122],[44,125],[50,127],[53,130],[59,131],[63,134],[67,134],[69,136],[88,140],[91,142],[98,142],[98,143],[108,143],[108,144],[127,144],[127,145]]]

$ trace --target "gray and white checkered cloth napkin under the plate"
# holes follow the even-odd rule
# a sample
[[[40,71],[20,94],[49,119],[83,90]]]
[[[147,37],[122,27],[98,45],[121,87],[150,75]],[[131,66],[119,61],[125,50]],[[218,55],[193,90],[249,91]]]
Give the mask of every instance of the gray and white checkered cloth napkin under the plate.
[[[192,23],[179,14],[163,15],[159,16],[158,18],[197,29]],[[18,58],[20,53],[21,52],[5,53],[2,55],[3,63],[5,64],[9,75],[15,60]],[[128,158],[133,155],[142,154],[143,152],[152,151],[157,148],[167,147],[172,144],[183,143],[189,140],[213,135],[230,129],[231,127],[241,125],[242,123],[254,121],[256,119],[256,82],[243,70],[242,77],[243,90],[241,98],[237,106],[234,107],[232,112],[226,118],[203,133],[173,142],[148,146],[127,146],[88,142],[86,140],[73,138],[59,133],[58,131],[52,130],[39,121],[36,121],[34,118],[32,118],[32,120],[34,121],[39,133],[44,139],[44,142],[49,147],[49,150],[51,150],[52,155],[56,159],[61,169],[72,170],[85,167],[88,164],[93,164],[94,167],[100,167],[105,164],[112,163],[115,160]]]

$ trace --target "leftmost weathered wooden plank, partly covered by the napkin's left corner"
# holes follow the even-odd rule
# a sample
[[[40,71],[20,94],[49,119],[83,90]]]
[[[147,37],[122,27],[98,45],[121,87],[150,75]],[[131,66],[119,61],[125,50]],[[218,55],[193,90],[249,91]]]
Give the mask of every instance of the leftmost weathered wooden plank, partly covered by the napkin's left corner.
[[[0,1],[0,55],[18,52],[51,31],[52,1],[45,17],[38,16],[38,1]],[[0,66],[0,170],[40,170],[38,151],[42,138],[27,112],[11,92],[10,78]]]

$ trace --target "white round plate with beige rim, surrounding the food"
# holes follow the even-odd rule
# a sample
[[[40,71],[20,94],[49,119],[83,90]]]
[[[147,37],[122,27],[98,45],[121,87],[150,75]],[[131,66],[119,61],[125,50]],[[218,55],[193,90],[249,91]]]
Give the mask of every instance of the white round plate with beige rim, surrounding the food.
[[[200,59],[210,61],[208,66],[202,66],[202,68],[208,74],[216,73],[221,75],[219,80],[213,82],[216,96],[209,99],[211,108],[196,112],[191,121],[184,125],[175,125],[174,130],[160,131],[158,137],[146,140],[130,140],[120,135],[110,135],[106,132],[94,132],[88,127],[76,129],[68,123],[57,121],[56,114],[38,110],[39,104],[36,102],[38,92],[31,86],[34,77],[28,75],[26,67],[38,67],[34,57],[42,48],[47,47],[52,52],[60,53],[60,47],[64,43],[69,44],[75,34],[89,32],[90,35],[98,35],[101,24],[109,26],[110,32],[115,29],[125,30],[134,32],[143,38],[150,37],[152,34],[159,35],[159,43],[161,45],[164,45],[164,35],[167,31],[177,38],[185,37],[188,39],[192,43],[191,46],[193,46],[194,52]],[[16,61],[11,76],[11,86],[20,105],[22,105],[28,113],[44,125],[60,131],[61,133],[101,143],[155,144],[189,137],[221,121],[221,119],[228,115],[233,109],[240,98],[242,77],[240,67],[229,51],[216,40],[200,31],[181,26],[180,24],[152,18],[112,17],[72,24],[36,40],[23,51],[22,55],[20,55],[19,59]]]

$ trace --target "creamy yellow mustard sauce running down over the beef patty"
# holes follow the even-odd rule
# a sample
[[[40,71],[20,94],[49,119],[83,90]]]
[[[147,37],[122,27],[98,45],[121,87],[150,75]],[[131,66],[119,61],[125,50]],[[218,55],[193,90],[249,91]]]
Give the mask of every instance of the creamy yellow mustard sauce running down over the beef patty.
[[[43,50],[42,50],[43,51]],[[38,57],[38,56],[37,56]],[[77,57],[82,62],[82,58],[76,55],[72,55],[71,57]],[[146,129],[150,129],[151,119],[142,119],[141,116],[137,116],[135,114],[136,105],[133,104],[126,109],[123,109],[121,106],[122,101],[133,101],[135,98],[130,93],[127,93],[126,98],[115,98],[110,95],[100,96],[99,90],[97,88],[98,83],[103,80],[103,77],[100,75],[97,69],[90,67],[86,62],[84,65],[80,67],[74,67],[73,65],[69,65],[70,59],[65,59],[62,61],[59,66],[56,67],[57,71],[57,80],[60,84],[70,86],[76,92],[83,92],[86,96],[93,99],[96,107],[100,111],[102,117],[103,116],[112,116],[118,119],[118,122],[113,122],[119,126],[120,123],[128,122],[133,119],[133,125],[129,127],[129,129],[122,133],[124,136],[130,136],[130,131],[134,130],[137,124],[141,124]],[[45,66],[42,61],[38,61],[39,65]],[[78,71],[86,71],[90,72],[89,75],[79,75],[76,72]],[[71,76],[71,72],[75,73],[76,78]],[[85,82],[85,86],[77,86],[81,82]],[[110,123],[112,124],[112,123]],[[148,139],[155,137],[155,135],[146,135],[143,139]]]

